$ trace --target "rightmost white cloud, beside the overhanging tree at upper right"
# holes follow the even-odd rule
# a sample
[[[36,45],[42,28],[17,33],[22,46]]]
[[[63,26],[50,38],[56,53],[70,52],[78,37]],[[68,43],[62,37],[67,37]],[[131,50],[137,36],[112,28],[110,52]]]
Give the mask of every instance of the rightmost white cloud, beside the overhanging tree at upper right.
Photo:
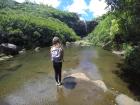
[[[105,14],[107,12],[107,10],[105,10],[105,7],[107,7],[105,0],[91,0],[89,4],[89,10],[95,17]]]

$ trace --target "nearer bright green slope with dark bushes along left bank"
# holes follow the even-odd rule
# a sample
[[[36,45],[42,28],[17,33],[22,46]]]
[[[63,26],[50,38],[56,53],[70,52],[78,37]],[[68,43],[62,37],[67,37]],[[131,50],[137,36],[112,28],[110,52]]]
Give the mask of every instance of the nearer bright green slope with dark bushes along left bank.
[[[52,17],[43,18],[8,8],[2,9],[0,13],[2,31],[9,42],[16,45],[46,46],[51,44],[54,36],[59,36],[64,43],[79,39],[73,29]]]

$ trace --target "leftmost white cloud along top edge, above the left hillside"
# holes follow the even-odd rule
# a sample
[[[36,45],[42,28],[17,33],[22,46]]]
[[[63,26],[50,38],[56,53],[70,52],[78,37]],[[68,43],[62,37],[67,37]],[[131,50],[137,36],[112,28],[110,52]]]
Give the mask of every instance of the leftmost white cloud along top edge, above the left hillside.
[[[24,2],[25,0],[15,0],[17,2]],[[52,6],[54,8],[58,7],[60,5],[60,0],[29,0],[31,2],[36,2],[37,4],[47,4],[49,6]]]

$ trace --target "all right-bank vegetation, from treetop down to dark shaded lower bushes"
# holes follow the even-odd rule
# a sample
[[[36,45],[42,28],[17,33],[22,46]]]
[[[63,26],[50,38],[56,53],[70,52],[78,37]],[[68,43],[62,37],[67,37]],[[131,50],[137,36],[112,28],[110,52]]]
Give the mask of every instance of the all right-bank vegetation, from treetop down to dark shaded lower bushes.
[[[140,91],[140,1],[106,0],[110,11],[97,20],[99,24],[89,34],[95,45],[113,50],[124,50],[125,60],[121,76]],[[140,95],[140,94],[139,94]]]

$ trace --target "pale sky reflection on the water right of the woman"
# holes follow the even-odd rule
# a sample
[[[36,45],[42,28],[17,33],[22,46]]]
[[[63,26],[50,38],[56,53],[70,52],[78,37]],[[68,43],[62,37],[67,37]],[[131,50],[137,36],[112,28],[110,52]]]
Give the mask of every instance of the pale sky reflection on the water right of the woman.
[[[78,65],[77,70],[80,70],[87,74],[90,79],[102,80],[97,66],[91,62],[93,57],[97,57],[96,50],[87,49],[81,51],[80,64]]]

